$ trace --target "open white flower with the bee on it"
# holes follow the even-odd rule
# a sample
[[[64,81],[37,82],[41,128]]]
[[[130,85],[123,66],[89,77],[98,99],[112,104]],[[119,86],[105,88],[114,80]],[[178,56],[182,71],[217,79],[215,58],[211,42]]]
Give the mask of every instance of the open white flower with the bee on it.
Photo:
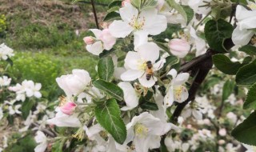
[[[142,46],[138,46],[138,52],[128,52],[125,58],[126,72],[121,75],[123,81],[134,81],[138,78],[138,81],[145,87],[154,86],[157,78],[150,75],[149,78],[146,77],[147,62],[152,64],[150,69],[152,74],[155,71],[162,68],[166,60],[163,58],[159,62],[156,60],[159,58],[159,47],[154,42],[147,42]]]

